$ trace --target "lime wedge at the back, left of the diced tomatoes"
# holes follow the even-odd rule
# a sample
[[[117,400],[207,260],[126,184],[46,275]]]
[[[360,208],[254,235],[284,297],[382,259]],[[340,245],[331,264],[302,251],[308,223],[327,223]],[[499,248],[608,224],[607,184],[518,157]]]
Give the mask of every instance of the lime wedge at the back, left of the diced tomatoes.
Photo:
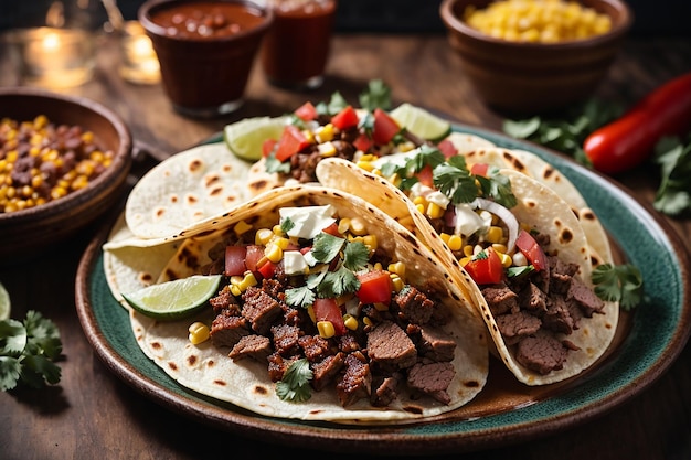
[[[287,117],[245,118],[223,129],[225,145],[236,157],[247,161],[262,158],[262,145],[267,139],[278,140]]]

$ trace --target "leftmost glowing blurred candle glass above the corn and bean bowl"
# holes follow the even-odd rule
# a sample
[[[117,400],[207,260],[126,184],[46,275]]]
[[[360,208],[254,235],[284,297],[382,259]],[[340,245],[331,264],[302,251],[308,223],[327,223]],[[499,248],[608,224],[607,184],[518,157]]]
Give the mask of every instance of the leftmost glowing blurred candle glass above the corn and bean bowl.
[[[88,82],[96,66],[94,38],[82,29],[31,28],[8,33],[23,84],[70,88]]]

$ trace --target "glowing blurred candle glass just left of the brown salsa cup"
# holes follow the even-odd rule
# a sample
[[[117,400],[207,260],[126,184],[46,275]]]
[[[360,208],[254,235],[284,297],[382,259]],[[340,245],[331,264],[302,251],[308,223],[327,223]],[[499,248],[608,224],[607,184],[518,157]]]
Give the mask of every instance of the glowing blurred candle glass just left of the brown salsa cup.
[[[140,85],[153,85],[161,81],[156,52],[139,21],[125,21],[119,32],[120,76]]]

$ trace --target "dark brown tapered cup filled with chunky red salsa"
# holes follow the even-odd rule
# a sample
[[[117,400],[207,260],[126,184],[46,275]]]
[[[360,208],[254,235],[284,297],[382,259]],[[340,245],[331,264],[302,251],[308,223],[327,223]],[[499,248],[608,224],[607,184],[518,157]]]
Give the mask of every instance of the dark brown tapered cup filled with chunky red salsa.
[[[273,19],[270,9],[244,0],[148,0],[139,8],[164,90],[177,111],[194,118],[242,106]]]

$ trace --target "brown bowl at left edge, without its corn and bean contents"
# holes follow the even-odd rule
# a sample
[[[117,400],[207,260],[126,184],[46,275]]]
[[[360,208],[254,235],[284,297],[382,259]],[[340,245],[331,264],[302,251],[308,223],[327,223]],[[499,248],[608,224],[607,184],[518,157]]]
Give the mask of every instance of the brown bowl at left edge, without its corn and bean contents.
[[[73,235],[108,211],[121,196],[131,167],[132,138],[113,111],[86,98],[26,87],[0,88],[0,118],[33,120],[45,115],[55,125],[81,126],[115,158],[86,188],[34,207],[0,213],[0,264],[36,255]]]

